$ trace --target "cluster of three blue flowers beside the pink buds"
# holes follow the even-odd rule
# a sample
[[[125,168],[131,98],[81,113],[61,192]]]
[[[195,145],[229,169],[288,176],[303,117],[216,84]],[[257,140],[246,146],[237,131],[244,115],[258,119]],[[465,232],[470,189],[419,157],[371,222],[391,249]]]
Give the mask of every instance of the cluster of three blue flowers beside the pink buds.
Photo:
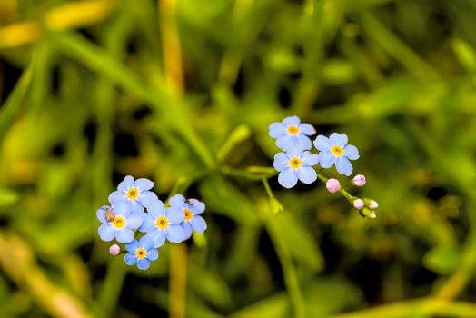
[[[348,144],[347,134],[333,133],[328,137],[319,134],[311,142],[310,136],[315,134],[311,124],[302,124],[297,116],[283,119],[281,123],[269,126],[269,135],[276,139],[276,145],[284,153],[274,155],[274,168],[280,172],[278,182],[285,188],[292,188],[300,180],[304,184],[312,184],[317,174],[312,168],[320,164],[322,168],[335,165],[337,172],[349,176],[352,174],[351,160],[359,158],[357,147]],[[319,154],[309,150],[312,144]]]

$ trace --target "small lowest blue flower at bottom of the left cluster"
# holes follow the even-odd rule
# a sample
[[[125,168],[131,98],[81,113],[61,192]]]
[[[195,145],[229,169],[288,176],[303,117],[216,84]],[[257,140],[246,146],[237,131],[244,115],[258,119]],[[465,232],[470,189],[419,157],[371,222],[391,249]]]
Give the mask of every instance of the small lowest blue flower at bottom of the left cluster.
[[[149,237],[143,236],[139,241],[134,240],[125,244],[125,249],[129,252],[125,254],[124,262],[130,266],[137,263],[137,268],[146,270],[159,257],[159,251],[154,249],[154,243]]]

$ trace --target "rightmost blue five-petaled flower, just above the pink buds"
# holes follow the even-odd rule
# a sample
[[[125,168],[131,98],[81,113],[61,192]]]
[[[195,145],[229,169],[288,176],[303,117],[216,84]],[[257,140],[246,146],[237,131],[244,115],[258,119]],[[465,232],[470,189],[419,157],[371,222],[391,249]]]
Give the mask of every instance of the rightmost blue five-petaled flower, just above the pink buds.
[[[314,146],[321,151],[319,161],[322,168],[330,168],[335,164],[339,174],[352,174],[350,160],[359,159],[359,150],[356,146],[347,144],[347,134],[333,133],[329,138],[320,134],[314,140]]]

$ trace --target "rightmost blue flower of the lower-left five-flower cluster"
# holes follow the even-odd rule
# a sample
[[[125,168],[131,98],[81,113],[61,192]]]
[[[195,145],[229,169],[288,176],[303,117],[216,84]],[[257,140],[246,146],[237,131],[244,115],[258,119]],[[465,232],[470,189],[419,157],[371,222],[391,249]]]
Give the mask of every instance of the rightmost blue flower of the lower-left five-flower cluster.
[[[197,199],[186,200],[182,194],[175,194],[169,200],[170,210],[178,211],[183,214],[182,226],[185,234],[184,239],[192,236],[192,230],[203,233],[206,230],[206,223],[203,217],[198,215],[205,211],[205,204]]]

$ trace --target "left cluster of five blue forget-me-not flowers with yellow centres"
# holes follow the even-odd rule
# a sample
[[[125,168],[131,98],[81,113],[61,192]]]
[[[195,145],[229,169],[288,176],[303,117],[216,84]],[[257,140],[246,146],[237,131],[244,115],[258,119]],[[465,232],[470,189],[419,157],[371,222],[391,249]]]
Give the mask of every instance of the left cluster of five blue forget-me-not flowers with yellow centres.
[[[153,186],[150,180],[134,180],[127,175],[117,191],[109,195],[111,205],[104,205],[96,212],[102,223],[98,229],[101,240],[125,243],[125,263],[137,264],[141,270],[148,269],[159,257],[157,249],[165,241],[181,243],[190,238],[193,231],[206,230],[206,223],[199,215],[204,212],[205,204],[175,194],[169,200],[170,206],[165,207],[150,191]]]

